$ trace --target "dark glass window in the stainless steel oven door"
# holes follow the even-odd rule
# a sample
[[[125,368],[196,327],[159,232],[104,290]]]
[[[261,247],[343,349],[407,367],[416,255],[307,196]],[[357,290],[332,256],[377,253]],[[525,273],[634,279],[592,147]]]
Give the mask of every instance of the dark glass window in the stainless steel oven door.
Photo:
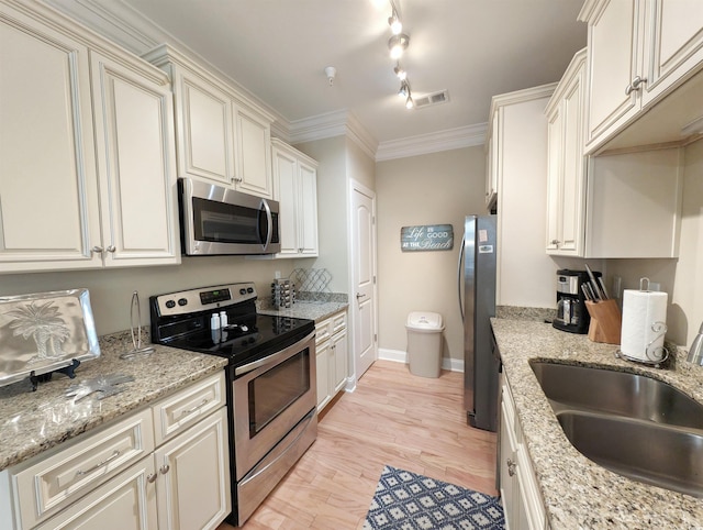
[[[249,382],[249,438],[310,390],[310,349]]]

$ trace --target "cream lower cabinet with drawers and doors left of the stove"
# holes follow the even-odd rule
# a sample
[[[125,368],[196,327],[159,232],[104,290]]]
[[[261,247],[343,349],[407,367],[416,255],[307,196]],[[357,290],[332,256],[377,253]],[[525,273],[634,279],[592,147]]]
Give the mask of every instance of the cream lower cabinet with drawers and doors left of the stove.
[[[213,529],[231,511],[224,373],[0,473],[3,529]]]

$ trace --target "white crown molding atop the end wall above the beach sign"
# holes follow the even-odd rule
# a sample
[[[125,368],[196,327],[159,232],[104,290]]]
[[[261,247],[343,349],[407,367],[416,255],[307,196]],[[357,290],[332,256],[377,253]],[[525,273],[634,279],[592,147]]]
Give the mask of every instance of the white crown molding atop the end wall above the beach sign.
[[[479,123],[381,142],[376,153],[376,162],[483,145],[487,131],[488,123]]]

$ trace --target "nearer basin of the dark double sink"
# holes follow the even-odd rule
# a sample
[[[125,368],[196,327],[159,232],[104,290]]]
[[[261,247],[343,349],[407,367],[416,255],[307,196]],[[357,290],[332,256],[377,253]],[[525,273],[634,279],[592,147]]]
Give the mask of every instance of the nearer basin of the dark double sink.
[[[615,473],[682,494],[703,497],[703,432],[589,413],[557,413],[581,454]]]

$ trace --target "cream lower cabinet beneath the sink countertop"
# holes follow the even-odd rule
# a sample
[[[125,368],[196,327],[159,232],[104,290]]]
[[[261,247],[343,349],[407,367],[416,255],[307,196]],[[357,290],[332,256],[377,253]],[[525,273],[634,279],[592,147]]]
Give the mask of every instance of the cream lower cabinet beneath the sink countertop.
[[[504,373],[501,374],[500,429],[499,475],[505,527],[510,530],[549,528]]]

